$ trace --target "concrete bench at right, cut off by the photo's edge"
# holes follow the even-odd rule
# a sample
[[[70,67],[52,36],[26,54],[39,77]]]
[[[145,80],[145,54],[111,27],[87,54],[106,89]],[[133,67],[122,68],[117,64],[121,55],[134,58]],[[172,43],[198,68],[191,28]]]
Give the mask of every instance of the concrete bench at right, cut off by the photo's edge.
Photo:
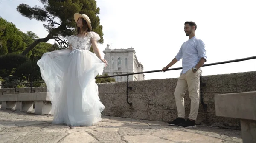
[[[256,143],[256,91],[215,95],[215,111],[240,119],[243,143]]]

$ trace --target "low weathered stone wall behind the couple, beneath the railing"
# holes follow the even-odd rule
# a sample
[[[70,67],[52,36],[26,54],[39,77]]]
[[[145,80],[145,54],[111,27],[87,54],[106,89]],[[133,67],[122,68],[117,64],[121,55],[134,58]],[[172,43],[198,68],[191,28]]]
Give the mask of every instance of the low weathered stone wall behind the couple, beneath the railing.
[[[217,117],[215,115],[214,95],[224,93],[239,93],[256,91],[256,71],[223,75],[203,76],[203,99],[207,104],[204,109],[200,102],[198,124],[240,129],[239,119]],[[175,79],[153,79],[144,81],[130,81],[129,101],[126,102],[126,82],[104,83],[99,85],[99,98],[105,105],[102,115],[145,119],[152,121],[170,121],[177,118],[174,90]],[[4,89],[12,94],[15,89]],[[29,93],[30,88],[17,89],[19,93]],[[45,87],[35,87],[36,92],[45,92]],[[2,94],[2,89],[0,90]],[[232,102],[232,101],[230,101]],[[185,95],[186,117],[190,111],[190,99]]]

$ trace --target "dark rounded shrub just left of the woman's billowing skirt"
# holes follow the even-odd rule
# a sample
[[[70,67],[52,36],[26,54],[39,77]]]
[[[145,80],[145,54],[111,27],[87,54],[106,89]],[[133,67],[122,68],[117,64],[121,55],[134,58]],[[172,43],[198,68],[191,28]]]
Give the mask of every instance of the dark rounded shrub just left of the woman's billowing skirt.
[[[36,61],[26,61],[17,67],[15,76],[23,77],[28,82],[36,81],[41,78],[40,68]]]

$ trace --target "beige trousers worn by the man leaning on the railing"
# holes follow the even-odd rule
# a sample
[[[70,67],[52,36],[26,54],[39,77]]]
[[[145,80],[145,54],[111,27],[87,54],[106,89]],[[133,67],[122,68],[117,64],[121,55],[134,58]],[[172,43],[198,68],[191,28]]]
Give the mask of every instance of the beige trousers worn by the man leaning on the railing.
[[[189,119],[196,120],[199,109],[200,76],[202,70],[198,69],[193,73],[192,69],[181,74],[174,91],[178,117],[185,118],[184,93],[189,90],[191,100]]]

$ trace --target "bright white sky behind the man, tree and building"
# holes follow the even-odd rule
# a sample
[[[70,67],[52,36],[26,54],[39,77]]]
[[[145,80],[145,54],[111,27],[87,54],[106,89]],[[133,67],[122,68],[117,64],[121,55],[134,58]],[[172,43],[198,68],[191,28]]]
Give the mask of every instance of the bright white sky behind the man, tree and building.
[[[143,71],[161,70],[188,39],[184,22],[197,24],[195,34],[206,44],[207,62],[256,56],[256,0],[96,0],[100,8],[104,50],[134,48]],[[47,36],[42,22],[21,16],[19,4],[42,6],[38,0],[1,0],[0,16],[21,31]],[[50,40],[49,43],[53,43]],[[110,63],[110,61],[108,61]],[[173,67],[181,67],[181,60]],[[256,70],[256,59],[202,67],[203,76]],[[176,78],[181,70],[146,73],[145,79]]]

